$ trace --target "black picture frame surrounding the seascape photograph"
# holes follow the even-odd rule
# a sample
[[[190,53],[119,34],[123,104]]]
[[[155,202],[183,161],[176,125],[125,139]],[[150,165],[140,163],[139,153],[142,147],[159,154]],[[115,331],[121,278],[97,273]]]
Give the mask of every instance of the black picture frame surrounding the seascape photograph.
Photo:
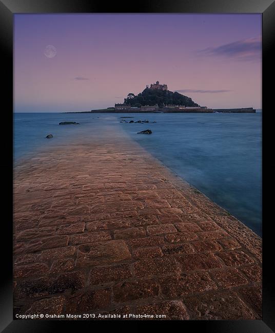
[[[0,0],[0,45],[2,61],[2,80],[4,82],[4,91],[2,90],[2,100],[5,99],[5,112],[2,113],[5,126],[5,144],[2,145],[3,160],[1,162],[1,171],[3,177],[2,193],[5,193],[2,199],[2,212],[6,216],[2,220],[2,284],[0,295],[0,329],[8,332],[49,332],[54,331],[62,325],[68,324],[68,321],[50,321],[50,320],[13,320],[12,309],[12,169],[13,169],[13,14],[15,13],[262,13],[263,19],[263,87],[270,76],[272,69],[270,52],[274,41],[274,0],[151,0],[135,3],[120,4],[112,2],[110,5],[105,2],[85,1],[85,0]],[[269,74],[269,75],[268,75]],[[270,86],[263,89],[263,109],[272,105]],[[269,92],[270,90],[270,92]],[[265,112],[265,111],[264,111]],[[267,221],[268,222],[268,221]],[[189,331],[201,329],[204,332],[272,332],[275,331],[275,292],[273,288],[273,275],[271,274],[272,259],[268,258],[272,254],[272,241],[269,237],[270,225],[263,224],[263,320],[253,321],[184,321],[181,322],[182,329]],[[6,239],[6,243],[4,242]],[[3,261],[6,260],[4,264]],[[70,328],[79,329],[79,324],[95,324],[91,321],[70,321]],[[99,323],[99,322],[96,322]],[[100,322],[106,323],[105,321]],[[112,322],[113,325],[123,324],[126,327],[131,325],[130,321]],[[148,321],[142,321],[141,324],[150,324]],[[155,324],[155,322],[153,323]],[[167,323],[166,323],[167,324]],[[171,322],[168,323],[169,325]],[[162,322],[162,325],[164,323]],[[131,325],[136,327],[136,325]],[[199,327],[198,327],[199,326]],[[163,327],[164,328],[164,327]],[[132,329],[132,327],[131,327]]]

